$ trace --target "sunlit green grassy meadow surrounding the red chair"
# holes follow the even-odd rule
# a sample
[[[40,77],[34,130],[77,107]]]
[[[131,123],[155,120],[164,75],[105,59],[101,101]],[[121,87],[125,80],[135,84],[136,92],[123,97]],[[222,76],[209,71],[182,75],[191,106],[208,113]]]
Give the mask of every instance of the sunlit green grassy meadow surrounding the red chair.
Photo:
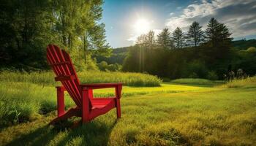
[[[120,120],[116,120],[116,110],[111,110],[78,128],[69,128],[78,118],[48,126],[56,117],[53,74],[2,72],[0,145],[256,143],[256,77],[226,83],[200,79],[161,82],[148,74],[95,73],[88,78],[85,74],[89,73],[78,74],[81,82],[140,82],[124,86]],[[103,76],[106,78],[99,80]],[[95,90],[94,95],[113,95],[113,90]],[[67,93],[65,97],[67,109],[74,106]]]

